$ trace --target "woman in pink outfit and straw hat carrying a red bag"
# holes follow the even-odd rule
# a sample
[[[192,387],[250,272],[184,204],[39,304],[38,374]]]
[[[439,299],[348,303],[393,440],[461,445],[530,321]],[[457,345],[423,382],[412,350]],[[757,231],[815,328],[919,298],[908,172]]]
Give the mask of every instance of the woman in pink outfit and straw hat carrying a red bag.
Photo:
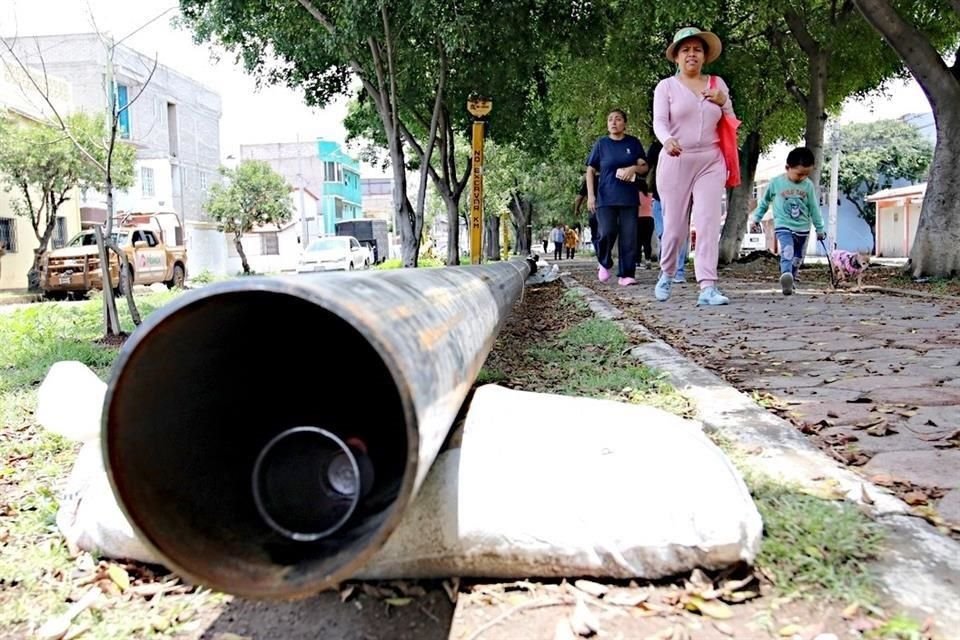
[[[720,218],[727,167],[720,151],[717,124],[733,114],[723,79],[702,73],[703,65],[720,55],[720,38],[694,27],[680,29],[667,47],[677,64],[674,76],[661,80],[653,94],[653,132],[663,143],[657,168],[657,189],[663,207],[660,278],[654,295],[667,300],[676,271],[677,253],[687,233],[687,210],[693,201],[697,230],[694,254],[700,295],[697,304],[727,304],[717,289]],[[711,86],[713,85],[713,86]]]

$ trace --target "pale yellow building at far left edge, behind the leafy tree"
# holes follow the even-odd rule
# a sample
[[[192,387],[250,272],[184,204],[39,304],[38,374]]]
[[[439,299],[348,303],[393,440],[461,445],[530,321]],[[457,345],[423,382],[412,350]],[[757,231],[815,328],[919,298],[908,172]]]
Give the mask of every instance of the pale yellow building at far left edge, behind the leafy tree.
[[[39,69],[31,73],[40,74]],[[72,109],[70,85],[51,74],[46,76],[46,86],[51,101],[58,111],[69,113]],[[0,64],[0,120],[10,127],[44,127],[53,115],[39,96],[31,95],[29,78],[18,67]],[[0,149],[0,153],[3,150]],[[14,202],[20,198],[19,190],[7,192],[0,189],[0,289],[25,289],[27,272],[33,266],[34,251],[40,246],[30,218],[17,215]],[[36,201],[36,199],[35,199]],[[40,231],[46,218],[40,220]],[[80,231],[80,194],[73,189],[67,200],[57,210],[53,235],[48,248],[64,246]]]

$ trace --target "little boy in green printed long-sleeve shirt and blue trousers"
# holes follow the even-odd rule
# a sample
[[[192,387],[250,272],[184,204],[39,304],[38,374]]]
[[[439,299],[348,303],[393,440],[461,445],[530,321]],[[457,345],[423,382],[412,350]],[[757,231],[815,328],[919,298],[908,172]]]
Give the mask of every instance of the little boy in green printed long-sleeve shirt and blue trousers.
[[[753,213],[754,233],[759,233],[760,219],[773,205],[773,232],[780,245],[780,289],[783,295],[793,293],[797,270],[803,261],[810,237],[810,225],[823,240],[823,217],[813,181],[808,177],[816,160],[807,147],[798,147],[787,154],[786,171],[767,185],[767,190]]]

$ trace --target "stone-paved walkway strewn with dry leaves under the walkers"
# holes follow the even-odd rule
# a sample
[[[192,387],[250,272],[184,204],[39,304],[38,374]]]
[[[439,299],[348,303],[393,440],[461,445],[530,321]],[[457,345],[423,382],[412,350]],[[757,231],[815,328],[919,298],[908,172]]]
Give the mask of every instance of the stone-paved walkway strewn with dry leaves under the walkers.
[[[561,263],[632,319],[718,373],[838,460],[934,520],[960,525],[960,302],[799,288],[725,278],[731,304],[696,306],[697,285],[653,298],[596,279],[594,262]],[[689,276],[688,276],[689,277]],[[802,277],[802,273],[801,273]]]

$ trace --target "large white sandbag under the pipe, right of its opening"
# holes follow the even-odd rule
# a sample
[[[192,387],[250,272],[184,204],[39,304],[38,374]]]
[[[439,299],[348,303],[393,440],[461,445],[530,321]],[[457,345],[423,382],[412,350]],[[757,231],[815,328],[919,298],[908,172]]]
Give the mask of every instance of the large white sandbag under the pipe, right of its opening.
[[[752,562],[760,514],[695,422],[614,401],[479,388],[361,579],[660,578]]]

